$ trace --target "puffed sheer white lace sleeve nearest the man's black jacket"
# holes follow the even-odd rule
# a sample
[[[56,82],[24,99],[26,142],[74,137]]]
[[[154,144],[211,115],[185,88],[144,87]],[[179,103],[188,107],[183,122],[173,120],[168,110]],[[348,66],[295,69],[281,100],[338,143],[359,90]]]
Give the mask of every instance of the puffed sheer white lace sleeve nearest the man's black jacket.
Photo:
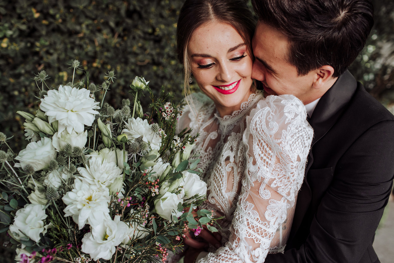
[[[246,122],[247,165],[230,240],[198,263],[264,262],[286,244],[313,136],[305,106],[292,95],[268,96]]]

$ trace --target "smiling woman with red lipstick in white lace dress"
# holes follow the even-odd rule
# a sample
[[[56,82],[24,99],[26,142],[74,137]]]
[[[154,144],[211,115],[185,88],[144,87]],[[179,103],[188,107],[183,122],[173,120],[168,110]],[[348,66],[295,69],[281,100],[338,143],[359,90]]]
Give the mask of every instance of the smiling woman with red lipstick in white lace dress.
[[[200,134],[208,185],[200,209],[224,217],[221,238],[201,232],[219,248],[185,238],[185,262],[264,262],[283,252],[292,225],[313,132],[299,99],[256,90],[252,17],[243,0],[186,0],[180,11],[179,59],[202,93],[185,98],[177,129]]]

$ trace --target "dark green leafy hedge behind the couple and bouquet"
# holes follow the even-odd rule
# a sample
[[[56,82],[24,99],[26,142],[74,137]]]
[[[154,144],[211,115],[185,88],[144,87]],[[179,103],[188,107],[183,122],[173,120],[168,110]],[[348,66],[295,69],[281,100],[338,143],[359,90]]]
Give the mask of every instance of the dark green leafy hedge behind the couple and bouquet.
[[[183,2],[0,0],[0,131],[14,135],[11,146],[22,149],[27,142],[24,119],[15,112],[35,113],[34,75],[45,70],[50,76],[47,83],[65,84],[72,78],[67,64],[73,59],[80,60],[95,84],[103,81],[108,70],[115,71],[116,82],[106,96],[115,106],[127,97],[136,75],[150,80],[152,90],[165,85],[181,99],[182,67],[176,57],[175,30]],[[391,109],[394,3],[373,2],[374,30],[350,71]],[[83,77],[84,71],[78,71],[77,79]],[[6,253],[2,249],[0,254]]]

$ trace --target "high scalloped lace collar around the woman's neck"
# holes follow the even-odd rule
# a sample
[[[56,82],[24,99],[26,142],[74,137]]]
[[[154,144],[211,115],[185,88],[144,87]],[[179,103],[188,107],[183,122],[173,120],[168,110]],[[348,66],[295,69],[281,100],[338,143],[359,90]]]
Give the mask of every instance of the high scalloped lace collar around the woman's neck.
[[[263,97],[264,97],[263,92],[258,90],[255,93],[251,93],[251,95],[249,95],[249,99],[241,103],[241,108],[239,110],[233,111],[231,115],[225,115],[222,118],[220,117],[219,113],[216,110],[214,116],[215,118],[217,118],[220,125],[227,126],[230,124],[234,124],[240,118],[245,116],[245,114],[249,112],[250,108],[253,107],[256,104],[256,102],[262,99]]]

